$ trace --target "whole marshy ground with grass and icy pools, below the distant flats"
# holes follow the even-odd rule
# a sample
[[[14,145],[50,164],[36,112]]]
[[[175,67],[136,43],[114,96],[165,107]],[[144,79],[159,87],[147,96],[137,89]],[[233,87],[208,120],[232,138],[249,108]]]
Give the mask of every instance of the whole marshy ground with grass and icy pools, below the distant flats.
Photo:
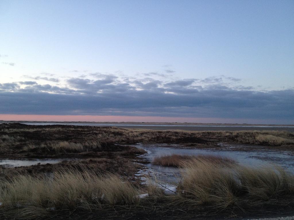
[[[2,123],[0,155],[0,219],[220,219],[294,210],[292,131]]]

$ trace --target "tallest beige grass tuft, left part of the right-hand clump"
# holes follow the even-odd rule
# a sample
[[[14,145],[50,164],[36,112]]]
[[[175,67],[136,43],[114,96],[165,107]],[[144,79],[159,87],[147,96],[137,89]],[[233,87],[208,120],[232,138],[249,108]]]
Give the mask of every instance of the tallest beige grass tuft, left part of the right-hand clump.
[[[193,159],[184,169],[178,186],[182,193],[179,200],[191,206],[212,205],[219,209],[237,204],[239,186],[228,168],[204,159]]]

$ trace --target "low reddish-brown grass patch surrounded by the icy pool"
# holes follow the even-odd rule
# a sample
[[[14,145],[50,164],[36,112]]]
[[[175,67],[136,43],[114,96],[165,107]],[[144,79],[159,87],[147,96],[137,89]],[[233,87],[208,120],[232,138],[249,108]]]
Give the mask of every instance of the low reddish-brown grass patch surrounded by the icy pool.
[[[152,161],[153,165],[161,165],[165,167],[181,167],[185,166],[186,163],[190,163],[194,160],[204,160],[209,163],[216,163],[219,165],[231,165],[236,163],[234,160],[225,157],[213,156],[213,155],[162,155],[161,157],[154,158]]]

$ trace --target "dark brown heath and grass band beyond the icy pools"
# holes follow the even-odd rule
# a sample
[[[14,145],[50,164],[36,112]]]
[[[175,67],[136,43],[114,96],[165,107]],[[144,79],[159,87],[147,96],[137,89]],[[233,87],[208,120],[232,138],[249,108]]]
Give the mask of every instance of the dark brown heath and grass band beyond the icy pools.
[[[0,154],[5,157],[42,157],[63,153],[110,151],[109,146],[133,143],[177,143],[201,148],[217,143],[265,145],[294,150],[294,133],[286,131],[156,131],[94,126],[29,126],[0,124]],[[106,149],[108,148],[108,149]]]

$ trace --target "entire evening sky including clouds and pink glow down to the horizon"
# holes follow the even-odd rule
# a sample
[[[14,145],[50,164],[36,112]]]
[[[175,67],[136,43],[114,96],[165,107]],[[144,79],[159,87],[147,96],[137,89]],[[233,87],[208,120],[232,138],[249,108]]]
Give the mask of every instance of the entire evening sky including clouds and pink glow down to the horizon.
[[[0,120],[294,124],[294,1],[0,1]]]

